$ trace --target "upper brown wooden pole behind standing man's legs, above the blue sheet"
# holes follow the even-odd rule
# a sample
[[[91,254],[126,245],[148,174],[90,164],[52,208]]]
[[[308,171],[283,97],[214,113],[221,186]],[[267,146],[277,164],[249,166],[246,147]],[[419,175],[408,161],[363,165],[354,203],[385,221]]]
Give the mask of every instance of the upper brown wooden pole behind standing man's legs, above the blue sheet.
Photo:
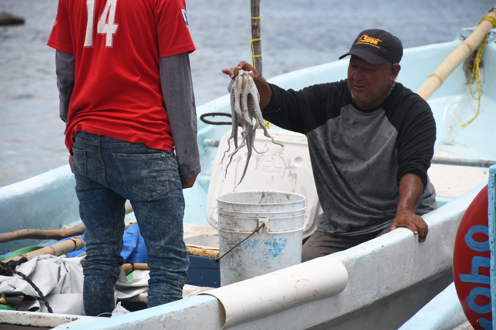
[[[125,205],[125,214],[132,212],[131,204]],[[131,223],[133,225],[135,223]],[[130,227],[129,224],[125,226],[125,229]],[[79,223],[75,226],[62,228],[62,229],[20,229],[9,232],[0,233],[0,243],[16,241],[19,239],[55,239],[61,240],[66,237],[82,235],[86,226],[84,223]]]

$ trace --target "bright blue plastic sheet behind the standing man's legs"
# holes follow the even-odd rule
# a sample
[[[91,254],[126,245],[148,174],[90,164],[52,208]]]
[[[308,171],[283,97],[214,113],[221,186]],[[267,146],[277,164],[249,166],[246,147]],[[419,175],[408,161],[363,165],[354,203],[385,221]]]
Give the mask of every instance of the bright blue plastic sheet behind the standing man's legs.
[[[84,235],[77,235],[72,237],[78,237],[78,236],[81,236],[82,239],[86,242],[86,238],[84,237]],[[71,238],[71,237],[67,237],[67,238]],[[45,246],[62,242],[67,238],[61,239],[60,241],[53,242],[50,244],[45,244]],[[125,264],[146,263],[145,241],[143,240],[143,237],[141,237],[141,234],[139,233],[139,227],[137,224],[130,226],[129,228],[124,230],[123,241],[124,241],[124,248],[121,252],[121,256],[123,256]],[[86,252],[86,247],[83,247],[82,249],[76,251],[69,252],[67,256],[69,258],[77,257],[78,255],[84,252]],[[4,254],[3,256],[8,255],[9,253],[10,252]]]

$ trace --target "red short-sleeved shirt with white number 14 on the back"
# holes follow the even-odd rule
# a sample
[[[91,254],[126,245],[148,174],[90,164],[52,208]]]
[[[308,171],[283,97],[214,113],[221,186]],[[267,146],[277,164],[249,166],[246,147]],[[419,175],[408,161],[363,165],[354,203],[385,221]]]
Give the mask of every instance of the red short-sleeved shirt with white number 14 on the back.
[[[48,46],[75,57],[69,151],[79,130],[174,150],[159,57],[195,50],[185,0],[59,0]]]

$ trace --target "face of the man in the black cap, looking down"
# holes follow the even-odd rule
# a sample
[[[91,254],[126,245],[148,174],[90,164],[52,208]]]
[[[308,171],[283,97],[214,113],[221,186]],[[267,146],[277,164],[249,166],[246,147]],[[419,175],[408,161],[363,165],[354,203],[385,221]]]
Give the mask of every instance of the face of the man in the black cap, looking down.
[[[391,82],[397,75],[394,74],[392,66],[391,62],[373,65],[352,55],[348,65],[348,88],[355,101],[363,104],[374,103],[389,92]],[[387,94],[385,96],[387,97]]]

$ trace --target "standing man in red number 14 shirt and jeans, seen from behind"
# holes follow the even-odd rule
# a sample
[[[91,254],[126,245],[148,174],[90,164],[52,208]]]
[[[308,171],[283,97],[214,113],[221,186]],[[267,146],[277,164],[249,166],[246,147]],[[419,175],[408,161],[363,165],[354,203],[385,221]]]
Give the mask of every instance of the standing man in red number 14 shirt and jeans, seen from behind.
[[[148,307],[181,299],[183,189],[200,172],[185,0],[59,0],[48,45],[57,50],[65,145],[86,225],[86,315],[115,308],[126,200],[147,248]]]

